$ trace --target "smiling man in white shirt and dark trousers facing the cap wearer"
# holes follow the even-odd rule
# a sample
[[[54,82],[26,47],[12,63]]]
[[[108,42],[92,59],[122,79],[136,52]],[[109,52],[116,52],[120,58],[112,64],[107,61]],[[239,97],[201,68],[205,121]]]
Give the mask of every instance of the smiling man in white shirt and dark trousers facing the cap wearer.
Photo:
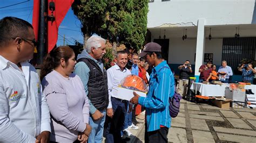
[[[107,69],[107,85],[109,88],[109,106],[107,107],[107,116],[109,117],[107,128],[105,130],[106,142],[122,142],[121,129],[124,124],[127,104],[129,101],[121,99],[117,95],[117,88],[121,81],[131,75],[131,71],[125,68],[128,61],[128,55],[125,51],[117,52],[117,64]],[[130,108],[130,111],[132,106]]]

